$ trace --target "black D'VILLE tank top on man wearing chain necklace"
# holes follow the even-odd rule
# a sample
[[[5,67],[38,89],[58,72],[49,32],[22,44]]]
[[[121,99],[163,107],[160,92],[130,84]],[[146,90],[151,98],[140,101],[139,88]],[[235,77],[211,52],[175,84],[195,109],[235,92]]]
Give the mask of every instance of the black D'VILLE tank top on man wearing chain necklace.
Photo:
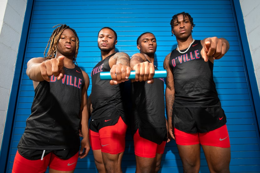
[[[169,65],[174,76],[174,107],[220,106],[213,81],[213,63],[203,60],[201,49],[200,40],[195,40],[186,53],[174,49],[170,55]]]

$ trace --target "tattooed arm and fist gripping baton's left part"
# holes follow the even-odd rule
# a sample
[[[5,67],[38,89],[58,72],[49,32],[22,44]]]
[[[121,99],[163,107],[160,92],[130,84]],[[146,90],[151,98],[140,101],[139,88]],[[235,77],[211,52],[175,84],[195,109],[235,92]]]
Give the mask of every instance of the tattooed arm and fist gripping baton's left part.
[[[128,79],[130,68],[130,57],[124,52],[118,52],[109,59],[109,66],[111,67],[110,85],[116,85]]]

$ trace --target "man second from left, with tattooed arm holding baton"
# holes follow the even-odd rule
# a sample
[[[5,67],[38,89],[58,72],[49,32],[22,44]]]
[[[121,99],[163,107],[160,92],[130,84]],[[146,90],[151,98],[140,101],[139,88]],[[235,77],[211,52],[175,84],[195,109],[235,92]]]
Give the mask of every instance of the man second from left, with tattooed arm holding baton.
[[[120,173],[127,130],[122,82],[130,75],[130,58],[124,52],[115,51],[117,34],[109,27],[99,31],[97,43],[102,60],[91,72],[90,144],[99,173]],[[110,71],[112,80],[101,80],[101,71]]]

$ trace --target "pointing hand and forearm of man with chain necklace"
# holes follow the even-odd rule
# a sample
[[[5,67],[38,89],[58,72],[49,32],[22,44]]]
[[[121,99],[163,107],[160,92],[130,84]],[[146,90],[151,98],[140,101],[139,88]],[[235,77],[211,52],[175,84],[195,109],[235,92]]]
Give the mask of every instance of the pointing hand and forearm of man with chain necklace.
[[[205,62],[222,58],[229,50],[229,43],[224,38],[210,37],[201,40],[203,46],[200,54]]]

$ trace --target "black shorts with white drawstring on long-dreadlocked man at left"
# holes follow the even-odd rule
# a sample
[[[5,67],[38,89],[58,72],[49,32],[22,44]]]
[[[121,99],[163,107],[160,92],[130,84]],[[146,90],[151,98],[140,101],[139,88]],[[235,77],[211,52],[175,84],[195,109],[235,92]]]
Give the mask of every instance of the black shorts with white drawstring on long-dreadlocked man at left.
[[[57,149],[57,150],[38,150],[38,149],[25,149],[18,148],[18,153],[28,160],[39,160],[42,157],[42,154],[48,155],[49,153],[55,154],[57,157],[63,160],[68,160],[72,156],[74,156],[79,151],[79,148],[73,149]]]

